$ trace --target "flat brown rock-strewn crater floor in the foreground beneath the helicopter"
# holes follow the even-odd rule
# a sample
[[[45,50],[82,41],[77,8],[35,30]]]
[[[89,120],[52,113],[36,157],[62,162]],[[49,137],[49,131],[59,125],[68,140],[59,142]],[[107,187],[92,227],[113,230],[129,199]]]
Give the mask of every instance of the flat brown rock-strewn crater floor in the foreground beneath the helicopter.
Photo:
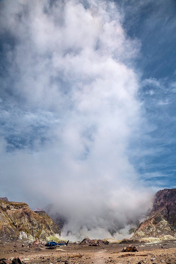
[[[27,264],[39,263],[115,263],[115,264],[174,264],[176,263],[176,240],[163,241],[156,244],[134,244],[138,252],[122,253],[122,248],[128,244],[109,244],[101,247],[77,246],[69,244],[57,249],[43,247],[29,248],[26,243],[21,247],[20,243],[0,244],[0,259],[20,256]],[[130,254],[130,255],[128,255]]]

